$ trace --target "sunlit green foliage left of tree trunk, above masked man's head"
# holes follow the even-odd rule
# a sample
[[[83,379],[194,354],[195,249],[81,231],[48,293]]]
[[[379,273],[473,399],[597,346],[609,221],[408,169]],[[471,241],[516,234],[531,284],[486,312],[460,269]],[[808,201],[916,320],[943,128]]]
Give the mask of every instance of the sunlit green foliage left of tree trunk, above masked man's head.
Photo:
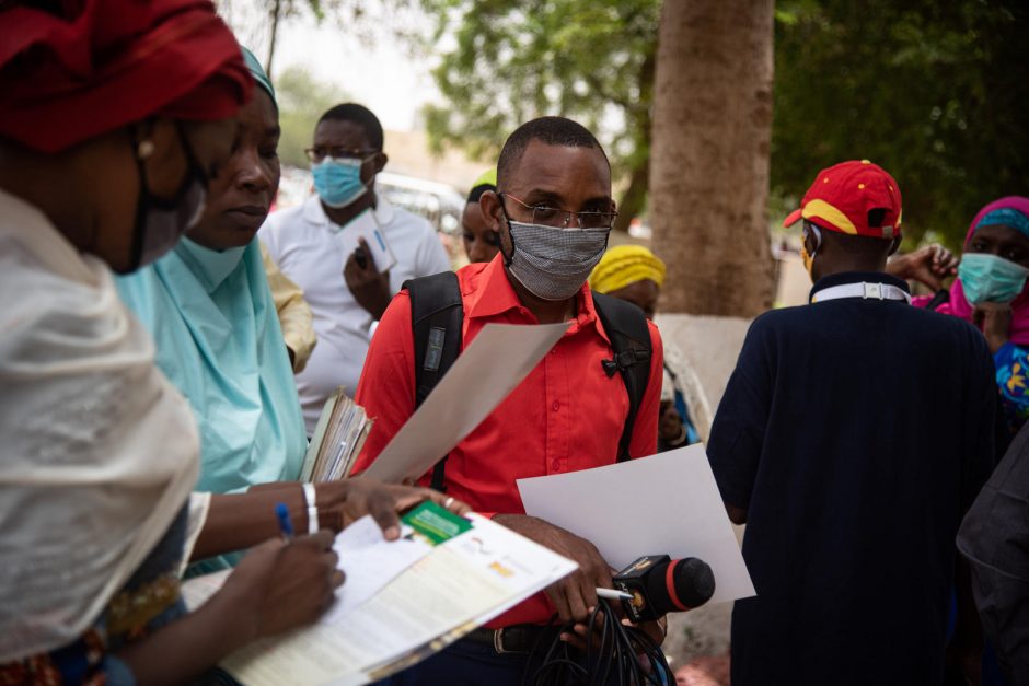
[[[496,155],[523,121],[564,115],[598,131],[615,174],[646,164],[659,0],[421,0],[452,30],[426,111],[432,144]]]

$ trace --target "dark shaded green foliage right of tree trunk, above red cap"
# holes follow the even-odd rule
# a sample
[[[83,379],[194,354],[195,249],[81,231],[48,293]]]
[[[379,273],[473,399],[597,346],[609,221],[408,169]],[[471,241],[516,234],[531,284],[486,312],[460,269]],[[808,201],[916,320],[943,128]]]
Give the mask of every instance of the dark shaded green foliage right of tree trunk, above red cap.
[[[904,228],[958,248],[980,207],[1029,193],[1029,16],[1016,0],[781,0],[773,195],[870,159]]]

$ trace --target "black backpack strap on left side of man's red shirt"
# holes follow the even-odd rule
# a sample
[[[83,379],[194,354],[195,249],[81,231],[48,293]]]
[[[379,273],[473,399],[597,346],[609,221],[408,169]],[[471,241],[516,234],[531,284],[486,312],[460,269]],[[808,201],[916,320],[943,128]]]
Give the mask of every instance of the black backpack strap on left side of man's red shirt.
[[[415,340],[415,409],[421,406],[439,380],[461,353],[464,305],[458,275],[442,271],[411,279],[403,286],[411,298],[411,327]],[[432,488],[446,490],[447,455],[432,469]]]

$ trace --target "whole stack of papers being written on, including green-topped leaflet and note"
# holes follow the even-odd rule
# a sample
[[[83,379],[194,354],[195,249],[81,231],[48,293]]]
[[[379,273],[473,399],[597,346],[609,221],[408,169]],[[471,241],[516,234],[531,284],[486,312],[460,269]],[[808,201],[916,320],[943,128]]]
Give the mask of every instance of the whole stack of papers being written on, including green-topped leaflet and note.
[[[336,538],[347,580],[317,624],[264,639],[221,663],[248,686],[366,684],[442,650],[576,569],[576,563],[476,514],[423,503],[405,536],[382,538],[370,516]],[[190,609],[218,591],[219,572],[190,579]]]

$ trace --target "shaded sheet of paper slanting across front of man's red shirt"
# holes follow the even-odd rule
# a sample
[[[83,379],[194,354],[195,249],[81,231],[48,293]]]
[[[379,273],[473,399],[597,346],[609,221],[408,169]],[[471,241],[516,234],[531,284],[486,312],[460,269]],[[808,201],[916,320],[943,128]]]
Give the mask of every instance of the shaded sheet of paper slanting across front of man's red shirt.
[[[420,477],[529,375],[570,325],[487,324],[366,474],[389,482]]]

